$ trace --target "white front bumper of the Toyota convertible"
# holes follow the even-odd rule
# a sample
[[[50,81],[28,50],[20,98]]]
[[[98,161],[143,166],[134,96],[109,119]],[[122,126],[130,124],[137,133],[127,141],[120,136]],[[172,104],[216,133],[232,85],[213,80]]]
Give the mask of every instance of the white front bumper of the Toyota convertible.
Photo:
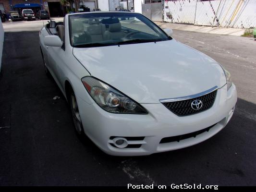
[[[101,109],[96,103],[87,104],[77,98],[80,116],[86,135],[107,154],[114,156],[143,156],[171,151],[198,144],[212,137],[223,129],[233,115],[237,101],[236,87],[227,92],[227,85],[218,89],[213,106],[206,111],[179,117],[161,103],[141,104],[149,111],[148,115],[113,114]],[[160,143],[163,138],[197,132],[207,127],[210,130],[195,137],[179,142]],[[125,137],[128,146],[118,148],[113,143],[114,137]],[[135,137],[135,139],[134,139]],[[136,138],[140,139],[136,140]],[[132,145],[134,144],[134,145]]]

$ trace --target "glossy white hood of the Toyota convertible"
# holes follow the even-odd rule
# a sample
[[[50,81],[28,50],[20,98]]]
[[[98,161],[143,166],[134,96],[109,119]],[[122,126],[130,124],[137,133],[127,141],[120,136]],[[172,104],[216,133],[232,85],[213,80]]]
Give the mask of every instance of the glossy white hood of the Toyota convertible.
[[[190,96],[226,84],[220,65],[175,39],[96,48],[73,48],[74,57],[103,82],[138,103]]]

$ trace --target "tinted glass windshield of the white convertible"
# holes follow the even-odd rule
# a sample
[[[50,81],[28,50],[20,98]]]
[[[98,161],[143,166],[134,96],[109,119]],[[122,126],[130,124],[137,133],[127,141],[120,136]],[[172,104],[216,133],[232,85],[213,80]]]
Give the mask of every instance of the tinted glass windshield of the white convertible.
[[[85,13],[69,16],[73,47],[102,47],[121,44],[167,41],[156,24],[138,13]]]

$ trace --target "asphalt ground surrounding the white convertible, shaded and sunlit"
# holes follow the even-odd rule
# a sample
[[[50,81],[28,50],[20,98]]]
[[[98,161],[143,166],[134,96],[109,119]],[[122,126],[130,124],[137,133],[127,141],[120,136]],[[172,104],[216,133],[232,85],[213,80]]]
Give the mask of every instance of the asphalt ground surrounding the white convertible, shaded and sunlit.
[[[256,41],[177,30],[173,36],[231,72],[239,97],[233,118],[201,144],[151,156],[117,157],[77,138],[61,91],[44,73],[38,31],[6,32],[0,78],[0,185],[256,185]]]

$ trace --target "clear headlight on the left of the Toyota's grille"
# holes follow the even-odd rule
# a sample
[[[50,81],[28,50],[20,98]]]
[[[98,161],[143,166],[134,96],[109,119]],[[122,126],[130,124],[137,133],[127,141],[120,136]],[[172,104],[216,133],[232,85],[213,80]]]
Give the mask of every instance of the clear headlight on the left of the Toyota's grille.
[[[138,103],[96,78],[86,76],[82,82],[95,102],[108,112],[147,114],[146,109]]]

